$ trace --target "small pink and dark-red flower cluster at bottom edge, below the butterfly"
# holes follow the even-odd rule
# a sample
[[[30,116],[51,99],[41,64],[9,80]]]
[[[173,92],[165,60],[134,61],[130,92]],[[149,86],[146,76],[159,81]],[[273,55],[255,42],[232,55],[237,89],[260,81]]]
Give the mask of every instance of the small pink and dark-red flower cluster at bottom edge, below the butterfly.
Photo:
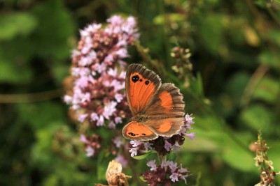
[[[149,186],[165,185],[169,186],[172,183],[176,183],[179,179],[184,180],[187,183],[188,169],[178,166],[176,162],[162,161],[159,166],[155,164],[155,160],[151,160],[147,163],[151,167],[149,171],[143,174],[144,180]]]

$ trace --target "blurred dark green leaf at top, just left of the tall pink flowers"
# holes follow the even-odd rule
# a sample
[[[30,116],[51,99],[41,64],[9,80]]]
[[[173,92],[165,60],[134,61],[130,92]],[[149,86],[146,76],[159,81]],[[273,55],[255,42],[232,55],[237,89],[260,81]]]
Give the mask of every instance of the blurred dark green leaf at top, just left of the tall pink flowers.
[[[41,23],[34,33],[36,52],[47,59],[69,58],[73,22],[62,1],[48,0],[41,3],[34,8],[34,15]]]

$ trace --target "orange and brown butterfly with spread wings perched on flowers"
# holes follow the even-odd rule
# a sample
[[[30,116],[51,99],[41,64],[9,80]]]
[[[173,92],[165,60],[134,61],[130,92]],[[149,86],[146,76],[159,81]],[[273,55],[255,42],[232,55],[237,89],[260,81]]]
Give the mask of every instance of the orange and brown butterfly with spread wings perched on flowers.
[[[172,137],[181,130],[185,102],[174,84],[162,84],[155,72],[134,63],[127,68],[125,93],[132,111],[130,122],[123,127],[126,139],[149,141]]]

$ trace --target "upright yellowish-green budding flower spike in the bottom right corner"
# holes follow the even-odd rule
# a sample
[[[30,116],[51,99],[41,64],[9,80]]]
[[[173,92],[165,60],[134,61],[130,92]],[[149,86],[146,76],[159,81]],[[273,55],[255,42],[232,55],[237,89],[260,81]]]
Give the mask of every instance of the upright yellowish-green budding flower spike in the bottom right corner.
[[[264,139],[262,139],[262,134],[258,134],[258,141],[255,142],[255,146],[253,146],[253,150],[255,150],[256,156],[255,166],[260,168],[260,183],[257,185],[269,185],[274,186],[274,179],[276,174],[275,171],[272,171],[274,168],[272,166],[272,161],[268,160],[267,150],[268,146]]]

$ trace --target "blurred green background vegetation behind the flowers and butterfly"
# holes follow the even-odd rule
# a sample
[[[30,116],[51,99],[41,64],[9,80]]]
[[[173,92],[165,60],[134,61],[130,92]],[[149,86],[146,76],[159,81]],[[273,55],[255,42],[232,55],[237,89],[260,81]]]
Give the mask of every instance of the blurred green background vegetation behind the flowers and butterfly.
[[[279,171],[279,8],[270,0],[0,1],[0,185],[106,183],[109,160],[85,157],[62,95],[79,29],[114,14],[137,17],[141,45],[157,59],[144,64],[181,88],[195,116],[196,139],[177,155],[188,185],[198,175],[200,185],[258,183],[249,146],[260,129]],[[171,68],[176,46],[192,54],[189,84]],[[143,59],[134,49],[127,61]]]

